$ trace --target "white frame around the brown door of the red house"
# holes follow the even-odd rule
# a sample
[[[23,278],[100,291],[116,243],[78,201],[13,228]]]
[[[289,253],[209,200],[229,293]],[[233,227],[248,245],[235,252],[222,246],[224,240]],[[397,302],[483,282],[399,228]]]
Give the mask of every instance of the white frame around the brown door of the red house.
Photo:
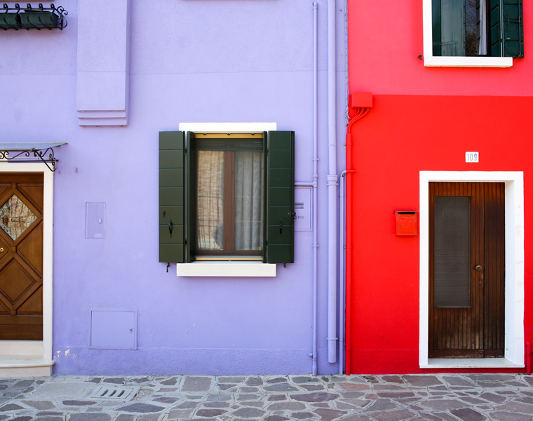
[[[504,358],[429,359],[429,182],[505,183]],[[524,367],[524,173],[420,171],[420,368]]]

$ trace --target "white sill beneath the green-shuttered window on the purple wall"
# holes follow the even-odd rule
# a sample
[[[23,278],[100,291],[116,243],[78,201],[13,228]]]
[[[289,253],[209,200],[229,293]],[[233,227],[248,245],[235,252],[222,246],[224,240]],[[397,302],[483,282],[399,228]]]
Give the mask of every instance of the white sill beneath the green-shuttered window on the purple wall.
[[[263,262],[177,263],[177,276],[276,276],[276,264]]]

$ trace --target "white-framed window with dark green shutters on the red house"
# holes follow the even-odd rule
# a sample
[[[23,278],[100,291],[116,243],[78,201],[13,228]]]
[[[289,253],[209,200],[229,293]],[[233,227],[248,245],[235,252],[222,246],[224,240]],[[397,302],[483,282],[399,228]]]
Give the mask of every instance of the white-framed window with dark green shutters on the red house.
[[[424,64],[510,67],[522,27],[522,0],[424,0]]]

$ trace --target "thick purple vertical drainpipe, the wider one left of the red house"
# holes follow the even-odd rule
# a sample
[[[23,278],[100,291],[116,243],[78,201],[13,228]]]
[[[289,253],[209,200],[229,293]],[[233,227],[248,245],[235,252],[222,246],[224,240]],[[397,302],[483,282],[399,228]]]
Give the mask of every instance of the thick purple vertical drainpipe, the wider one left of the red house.
[[[337,362],[337,133],[335,130],[335,0],[328,0],[328,361]]]

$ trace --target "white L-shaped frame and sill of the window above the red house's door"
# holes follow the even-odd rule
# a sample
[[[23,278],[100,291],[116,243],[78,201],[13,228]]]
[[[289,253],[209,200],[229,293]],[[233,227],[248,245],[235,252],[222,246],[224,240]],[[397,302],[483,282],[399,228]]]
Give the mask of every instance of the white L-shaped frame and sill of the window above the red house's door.
[[[426,67],[512,67],[512,57],[435,57],[431,0],[422,0],[424,23],[424,66]]]

